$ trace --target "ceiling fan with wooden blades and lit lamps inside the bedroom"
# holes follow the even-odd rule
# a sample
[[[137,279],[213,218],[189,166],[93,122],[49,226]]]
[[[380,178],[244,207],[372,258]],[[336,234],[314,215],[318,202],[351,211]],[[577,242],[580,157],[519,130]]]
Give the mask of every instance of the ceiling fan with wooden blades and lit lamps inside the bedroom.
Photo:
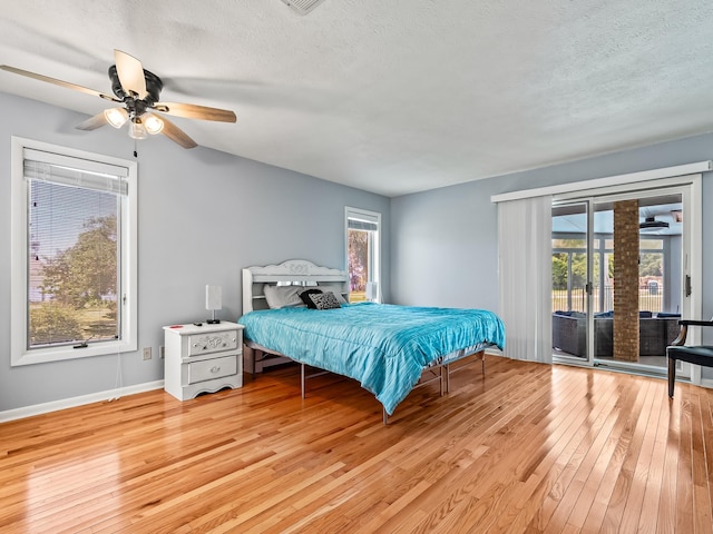
[[[121,50],[114,50],[114,59],[116,65],[109,67],[114,96],[9,65],[0,65],[0,69],[121,103],[121,106],[106,109],[85,120],[77,126],[80,130],[95,130],[105,125],[121,128],[126,122],[129,122],[129,137],[133,139],[145,139],[148,134],[163,134],[183,148],[194,148],[197,145],[191,137],[165,117],[155,115],[154,111],[187,119],[235,122],[235,113],[226,109],[158,101],[160,90],[164,87],[159,77],[144,69],[138,59]]]

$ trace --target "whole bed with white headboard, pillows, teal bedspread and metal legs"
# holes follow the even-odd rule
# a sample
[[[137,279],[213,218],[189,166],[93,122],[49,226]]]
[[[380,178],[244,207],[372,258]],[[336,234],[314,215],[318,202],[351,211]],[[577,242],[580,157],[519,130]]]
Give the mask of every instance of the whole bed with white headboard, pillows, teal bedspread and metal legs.
[[[485,349],[505,346],[505,326],[488,310],[346,304],[348,297],[345,271],[307,260],[243,269],[246,369],[297,362],[303,397],[311,376],[354,378],[382,404],[387,424],[414,387],[438,380],[442,395],[453,363],[475,355],[485,373]],[[318,373],[306,375],[307,367]]]

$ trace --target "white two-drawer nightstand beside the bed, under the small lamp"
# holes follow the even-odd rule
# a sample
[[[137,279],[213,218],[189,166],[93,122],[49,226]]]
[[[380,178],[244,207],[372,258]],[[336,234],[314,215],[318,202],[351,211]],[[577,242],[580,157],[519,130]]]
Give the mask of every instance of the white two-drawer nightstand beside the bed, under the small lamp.
[[[243,386],[243,325],[164,326],[164,389],[178,400]]]

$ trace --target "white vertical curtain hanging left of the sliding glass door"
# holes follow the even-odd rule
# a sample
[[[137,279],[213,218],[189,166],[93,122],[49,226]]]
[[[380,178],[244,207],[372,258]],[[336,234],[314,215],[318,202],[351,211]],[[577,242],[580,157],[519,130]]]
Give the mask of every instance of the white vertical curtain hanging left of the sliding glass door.
[[[498,204],[500,317],[505,355],[553,362],[551,196]]]

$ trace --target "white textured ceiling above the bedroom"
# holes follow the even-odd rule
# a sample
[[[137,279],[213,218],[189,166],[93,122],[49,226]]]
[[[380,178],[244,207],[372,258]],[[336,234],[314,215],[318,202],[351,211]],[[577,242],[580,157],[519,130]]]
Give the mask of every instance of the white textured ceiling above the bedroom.
[[[4,3],[0,63],[110,92],[123,50],[162,100],[236,112],[175,119],[199,145],[388,196],[713,130],[710,0]],[[0,90],[109,107],[3,71]]]

